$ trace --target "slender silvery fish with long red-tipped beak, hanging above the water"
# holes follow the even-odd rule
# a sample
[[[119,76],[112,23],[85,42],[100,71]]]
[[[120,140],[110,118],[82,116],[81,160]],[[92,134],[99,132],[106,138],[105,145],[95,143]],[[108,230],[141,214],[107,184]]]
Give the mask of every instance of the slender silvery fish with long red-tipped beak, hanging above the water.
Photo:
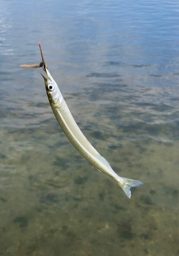
[[[46,76],[43,76],[42,74],[41,75],[44,79],[49,104],[58,123],[61,126],[61,129],[72,143],[72,145],[76,148],[76,150],[80,152],[84,158],[86,158],[100,173],[104,173],[107,176],[113,178],[122,188],[125,195],[128,198],[131,198],[131,187],[139,186],[143,183],[138,180],[118,176],[112,169],[108,160],[101,156],[91,145],[91,143],[80,130],[78,124],[76,124],[57,83],[53,79],[52,75],[50,75],[40,43],[39,47],[42,57],[43,70],[45,71]]]

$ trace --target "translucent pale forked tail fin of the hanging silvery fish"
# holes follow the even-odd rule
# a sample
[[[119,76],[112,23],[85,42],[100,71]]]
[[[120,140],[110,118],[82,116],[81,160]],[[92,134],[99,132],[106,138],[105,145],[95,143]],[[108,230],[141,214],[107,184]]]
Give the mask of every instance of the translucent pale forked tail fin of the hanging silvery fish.
[[[131,190],[130,190],[131,187],[136,187],[143,184],[141,181],[132,180],[132,179],[123,178],[123,177],[119,177],[117,182],[128,198],[131,198]]]

